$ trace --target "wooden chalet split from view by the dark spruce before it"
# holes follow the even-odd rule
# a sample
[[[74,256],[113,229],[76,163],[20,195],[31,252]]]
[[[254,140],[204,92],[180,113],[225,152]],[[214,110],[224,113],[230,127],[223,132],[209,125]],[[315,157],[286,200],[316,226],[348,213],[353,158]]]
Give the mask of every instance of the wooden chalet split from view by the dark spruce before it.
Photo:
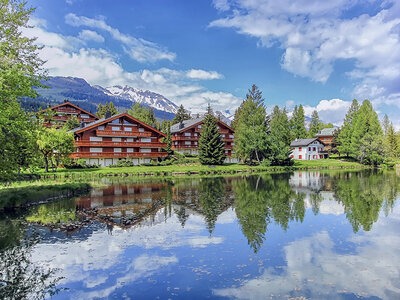
[[[204,118],[190,119],[171,126],[172,149],[179,153],[199,154],[199,138]],[[218,120],[219,132],[225,142],[225,155],[231,158],[235,131]]]

